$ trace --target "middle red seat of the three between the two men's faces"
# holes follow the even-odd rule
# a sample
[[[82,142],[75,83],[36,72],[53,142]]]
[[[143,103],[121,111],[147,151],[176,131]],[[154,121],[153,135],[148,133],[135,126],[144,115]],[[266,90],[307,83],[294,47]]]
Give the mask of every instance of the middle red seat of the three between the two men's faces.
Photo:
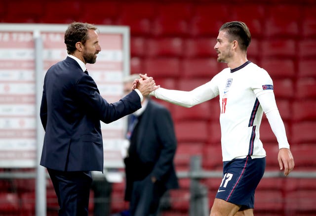
[[[182,56],[183,40],[181,38],[150,39],[146,50],[148,56]]]

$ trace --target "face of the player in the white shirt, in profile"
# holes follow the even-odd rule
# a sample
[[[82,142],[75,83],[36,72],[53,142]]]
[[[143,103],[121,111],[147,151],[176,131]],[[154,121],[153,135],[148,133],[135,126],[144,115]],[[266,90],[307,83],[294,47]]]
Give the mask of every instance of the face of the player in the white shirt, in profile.
[[[233,42],[230,42],[226,31],[220,31],[214,49],[217,52],[217,61],[228,63],[233,57]]]

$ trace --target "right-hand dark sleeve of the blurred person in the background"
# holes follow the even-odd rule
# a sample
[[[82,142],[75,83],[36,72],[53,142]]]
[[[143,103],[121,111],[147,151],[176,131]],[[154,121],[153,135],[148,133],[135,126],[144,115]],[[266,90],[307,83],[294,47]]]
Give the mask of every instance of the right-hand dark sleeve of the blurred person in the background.
[[[162,180],[173,166],[173,158],[177,148],[173,122],[167,109],[159,109],[155,119],[155,127],[162,146],[160,156],[151,175],[155,176],[157,180]]]

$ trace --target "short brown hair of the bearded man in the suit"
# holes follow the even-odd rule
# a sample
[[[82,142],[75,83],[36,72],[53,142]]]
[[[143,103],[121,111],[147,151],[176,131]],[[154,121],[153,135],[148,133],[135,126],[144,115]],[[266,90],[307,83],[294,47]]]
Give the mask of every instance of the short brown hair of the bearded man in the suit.
[[[73,22],[69,25],[64,37],[68,54],[76,51],[77,42],[84,44],[87,41],[89,29],[97,30],[97,27],[89,23],[80,22]]]

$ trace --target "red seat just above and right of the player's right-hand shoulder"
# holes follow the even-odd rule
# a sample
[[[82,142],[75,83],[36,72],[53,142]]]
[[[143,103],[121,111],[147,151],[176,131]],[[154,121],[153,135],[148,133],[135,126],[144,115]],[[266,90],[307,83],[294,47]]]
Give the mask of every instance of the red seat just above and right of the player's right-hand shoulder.
[[[293,78],[295,76],[295,65],[291,59],[263,59],[260,66],[268,71],[272,79]]]

